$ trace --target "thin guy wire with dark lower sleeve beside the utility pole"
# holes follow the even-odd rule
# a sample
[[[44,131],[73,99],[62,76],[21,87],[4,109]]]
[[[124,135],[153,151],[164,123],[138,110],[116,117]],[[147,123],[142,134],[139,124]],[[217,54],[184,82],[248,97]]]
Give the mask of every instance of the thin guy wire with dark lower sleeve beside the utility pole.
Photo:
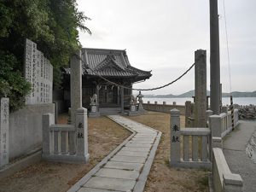
[[[231,73],[230,73],[230,49],[229,49],[229,39],[228,39],[228,29],[227,29],[227,20],[226,20],[226,9],[225,9],[225,0],[223,0],[224,7],[224,22],[225,22],[225,32],[226,32],[226,44],[227,44],[227,54],[229,62],[229,74],[230,74],[230,110],[231,110],[231,120],[232,120],[232,130],[234,130],[234,106],[233,106],[233,97],[232,97],[232,86],[231,86]]]

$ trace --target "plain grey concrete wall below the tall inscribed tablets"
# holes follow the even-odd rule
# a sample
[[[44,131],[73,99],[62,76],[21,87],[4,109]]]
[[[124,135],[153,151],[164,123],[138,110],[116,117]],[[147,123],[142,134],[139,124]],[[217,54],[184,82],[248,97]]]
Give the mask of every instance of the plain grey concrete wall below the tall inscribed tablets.
[[[27,105],[9,119],[9,160],[42,148],[42,115],[54,113],[55,105]]]

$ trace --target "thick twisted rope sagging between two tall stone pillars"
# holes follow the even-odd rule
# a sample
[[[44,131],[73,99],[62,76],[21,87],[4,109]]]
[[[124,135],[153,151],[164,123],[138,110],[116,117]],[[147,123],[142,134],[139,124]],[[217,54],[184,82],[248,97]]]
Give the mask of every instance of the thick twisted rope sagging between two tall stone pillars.
[[[82,62],[84,63],[84,70],[88,68],[88,69],[90,69],[90,71],[91,71],[92,73],[95,73],[96,76],[98,76],[99,78],[101,78],[101,79],[107,81],[109,84],[113,84],[113,85],[115,85],[115,86],[118,86],[118,87],[121,87],[121,88],[124,88],[124,89],[127,89],[127,90],[145,90],[145,91],[146,91],[146,90],[160,90],[160,89],[162,89],[162,88],[164,88],[164,87],[167,87],[167,86],[169,86],[169,85],[171,85],[171,84],[174,84],[175,82],[177,82],[177,80],[182,79],[183,76],[184,76],[186,73],[188,73],[188,72],[195,66],[195,63],[193,63],[192,66],[190,66],[187,71],[185,71],[185,72],[184,72],[182,75],[180,75],[177,79],[173,80],[172,82],[170,82],[170,83],[168,83],[168,84],[164,84],[164,85],[162,85],[162,86],[155,87],[155,88],[150,88],[150,89],[135,89],[135,88],[127,87],[127,86],[125,86],[125,85],[116,84],[116,83],[114,83],[114,82],[112,82],[112,81],[110,81],[110,80],[104,78],[102,75],[96,73],[96,71],[94,71],[92,68],[90,68],[89,65],[87,65],[87,64],[82,60],[82,58],[81,58],[79,55],[75,55],[75,56],[76,56],[80,61],[82,61]]]

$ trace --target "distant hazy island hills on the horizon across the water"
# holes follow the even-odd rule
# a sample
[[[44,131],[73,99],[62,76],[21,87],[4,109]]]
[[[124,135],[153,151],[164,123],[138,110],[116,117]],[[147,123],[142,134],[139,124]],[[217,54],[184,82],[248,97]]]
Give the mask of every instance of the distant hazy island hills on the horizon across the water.
[[[253,92],[239,92],[234,91],[231,93],[233,97],[256,97],[256,90]],[[145,95],[146,98],[185,98],[195,96],[195,90],[189,90],[181,95]],[[210,96],[210,91],[207,90],[207,96]],[[230,93],[222,93],[222,97],[230,97]]]

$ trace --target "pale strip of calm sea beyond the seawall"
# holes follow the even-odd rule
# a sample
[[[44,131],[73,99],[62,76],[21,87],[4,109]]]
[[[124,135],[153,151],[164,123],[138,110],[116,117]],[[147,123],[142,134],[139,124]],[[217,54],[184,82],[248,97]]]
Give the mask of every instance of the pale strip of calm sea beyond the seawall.
[[[187,97],[187,98],[147,98],[143,97],[143,102],[147,103],[154,103],[157,102],[158,104],[162,104],[163,102],[166,102],[166,104],[171,104],[172,102],[176,102],[177,105],[185,105],[186,101],[193,102],[193,98]],[[223,105],[230,105],[230,97],[223,97],[222,98]],[[256,97],[233,97],[233,104],[238,104],[242,106],[246,105],[256,105]]]

